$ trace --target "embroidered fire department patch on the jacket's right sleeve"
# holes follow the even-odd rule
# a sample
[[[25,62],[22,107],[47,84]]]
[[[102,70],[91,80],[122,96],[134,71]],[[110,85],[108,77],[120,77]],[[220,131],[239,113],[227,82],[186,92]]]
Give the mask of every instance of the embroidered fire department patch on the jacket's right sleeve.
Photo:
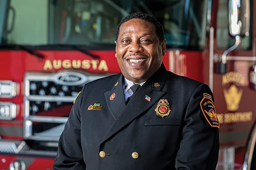
[[[202,109],[202,112],[204,113],[204,117],[208,121],[208,123],[212,127],[220,127],[218,118],[217,118],[217,113],[215,110],[215,106],[212,101],[212,96],[204,93],[204,98],[200,102],[200,106]]]

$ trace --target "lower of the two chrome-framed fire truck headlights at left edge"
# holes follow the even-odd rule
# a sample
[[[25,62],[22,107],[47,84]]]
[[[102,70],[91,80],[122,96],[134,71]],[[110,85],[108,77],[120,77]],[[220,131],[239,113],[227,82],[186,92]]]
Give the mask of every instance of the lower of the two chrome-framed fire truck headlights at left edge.
[[[16,118],[16,104],[0,102],[0,120],[12,120]]]

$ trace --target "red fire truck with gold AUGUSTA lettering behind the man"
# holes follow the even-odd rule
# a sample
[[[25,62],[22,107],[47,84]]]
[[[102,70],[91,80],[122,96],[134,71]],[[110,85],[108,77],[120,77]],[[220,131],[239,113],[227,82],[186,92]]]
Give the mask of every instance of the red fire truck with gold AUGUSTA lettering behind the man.
[[[211,87],[217,169],[256,170],[253,9],[253,0],[0,0],[0,170],[52,169],[73,100],[120,72],[115,29],[137,11],[163,24],[166,68]]]

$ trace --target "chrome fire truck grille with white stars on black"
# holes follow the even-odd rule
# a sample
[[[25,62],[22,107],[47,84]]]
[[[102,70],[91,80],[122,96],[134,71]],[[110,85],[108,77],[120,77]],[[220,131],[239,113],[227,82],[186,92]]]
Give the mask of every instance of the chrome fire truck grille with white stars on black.
[[[26,73],[24,79],[24,138],[58,141],[82,86],[105,75],[80,72]]]

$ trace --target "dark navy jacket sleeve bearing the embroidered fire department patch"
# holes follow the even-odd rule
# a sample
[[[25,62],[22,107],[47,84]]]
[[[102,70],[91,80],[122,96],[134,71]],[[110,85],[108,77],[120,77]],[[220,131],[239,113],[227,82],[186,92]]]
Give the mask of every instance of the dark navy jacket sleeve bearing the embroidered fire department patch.
[[[211,90],[201,84],[192,93],[183,121],[176,170],[215,170],[219,124]]]

